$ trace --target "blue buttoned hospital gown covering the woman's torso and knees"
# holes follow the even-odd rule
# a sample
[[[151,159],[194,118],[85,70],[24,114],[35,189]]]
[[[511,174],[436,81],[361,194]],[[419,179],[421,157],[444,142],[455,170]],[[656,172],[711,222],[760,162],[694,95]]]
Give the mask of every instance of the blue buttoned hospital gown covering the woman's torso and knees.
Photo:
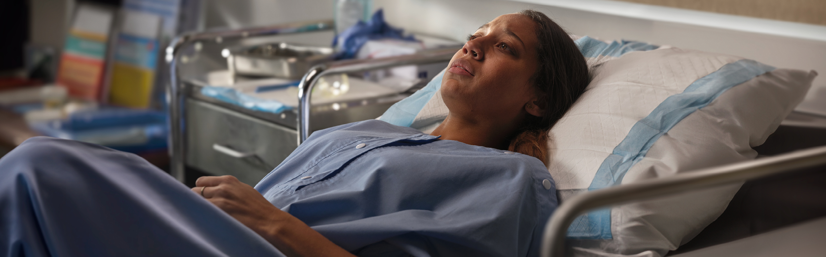
[[[281,255],[138,157],[32,140],[0,160],[0,253]],[[534,157],[367,120],[313,133],[255,189],[356,255],[536,256],[544,180]]]

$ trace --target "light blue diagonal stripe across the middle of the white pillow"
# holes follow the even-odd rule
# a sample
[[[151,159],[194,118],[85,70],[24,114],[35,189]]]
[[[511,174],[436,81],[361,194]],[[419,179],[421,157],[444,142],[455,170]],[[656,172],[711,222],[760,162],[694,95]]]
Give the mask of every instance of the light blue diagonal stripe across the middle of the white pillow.
[[[605,158],[596,171],[594,180],[591,180],[588,190],[619,185],[625,173],[645,157],[657,139],[683,118],[709,105],[729,88],[774,69],[753,60],[738,60],[701,77],[682,93],[668,96],[648,116],[634,124],[628,135],[614,148],[614,152]],[[567,235],[573,239],[611,239],[610,209],[601,209],[577,217],[568,228]]]

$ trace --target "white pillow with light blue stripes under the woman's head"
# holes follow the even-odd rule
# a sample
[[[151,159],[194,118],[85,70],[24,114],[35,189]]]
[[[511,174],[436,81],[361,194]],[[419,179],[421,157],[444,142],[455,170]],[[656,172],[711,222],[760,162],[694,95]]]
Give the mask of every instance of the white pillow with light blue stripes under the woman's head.
[[[774,132],[817,75],[636,42],[583,37],[577,44],[593,80],[549,132],[546,162],[562,201],[589,189],[753,159],[752,147]],[[432,131],[447,115],[441,75],[381,119]],[[713,222],[738,188],[588,213],[569,228],[572,253],[665,255]]]

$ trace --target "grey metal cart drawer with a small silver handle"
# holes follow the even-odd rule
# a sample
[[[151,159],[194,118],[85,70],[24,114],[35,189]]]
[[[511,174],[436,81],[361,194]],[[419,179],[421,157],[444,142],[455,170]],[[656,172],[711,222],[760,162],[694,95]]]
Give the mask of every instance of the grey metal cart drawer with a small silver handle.
[[[255,185],[297,147],[297,133],[221,106],[188,99],[187,165]]]

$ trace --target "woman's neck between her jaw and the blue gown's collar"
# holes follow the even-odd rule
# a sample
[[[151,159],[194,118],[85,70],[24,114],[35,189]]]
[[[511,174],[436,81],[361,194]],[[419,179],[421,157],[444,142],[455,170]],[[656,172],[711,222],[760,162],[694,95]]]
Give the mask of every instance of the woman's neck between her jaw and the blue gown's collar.
[[[442,136],[440,139],[506,150],[510,145],[509,136],[514,131],[515,128],[503,128],[502,124],[463,119],[448,114],[444,122],[430,134]]]

